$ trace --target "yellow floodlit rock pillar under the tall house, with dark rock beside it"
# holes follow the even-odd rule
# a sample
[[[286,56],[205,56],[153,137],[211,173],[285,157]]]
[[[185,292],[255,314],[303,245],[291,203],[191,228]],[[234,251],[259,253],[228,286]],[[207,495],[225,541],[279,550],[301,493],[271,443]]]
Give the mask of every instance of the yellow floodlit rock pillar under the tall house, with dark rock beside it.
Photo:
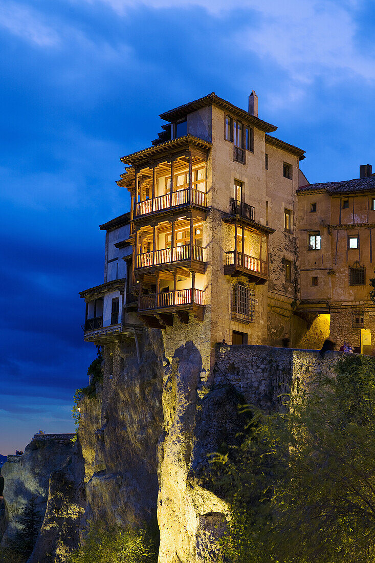
[[[234,444],[244,421],[238,415],[234,388],[214,387],[205,394],[201,372],[199,351],[187,342],[176,350],[164,375],[159,563],[216,561],[216,539],[229,512],[210,490],[207,456],[224,442]]]

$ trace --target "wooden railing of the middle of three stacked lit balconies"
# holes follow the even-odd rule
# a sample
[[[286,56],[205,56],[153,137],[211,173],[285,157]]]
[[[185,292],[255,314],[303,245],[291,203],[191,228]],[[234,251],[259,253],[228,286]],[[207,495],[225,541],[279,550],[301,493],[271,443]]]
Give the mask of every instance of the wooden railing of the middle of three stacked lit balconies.
[[[173,248],[162,248],[154,252],[145,252],[137,254],[136,270],[144,268],[162,269],[159,266],[173,264],[173,266],[181,265],[181,262],[191,262],[195,265],[195,269],[200,273],[204,271],[203,248],[197,244],[184,244]],[[190,264],[191,265],[191,264]]]

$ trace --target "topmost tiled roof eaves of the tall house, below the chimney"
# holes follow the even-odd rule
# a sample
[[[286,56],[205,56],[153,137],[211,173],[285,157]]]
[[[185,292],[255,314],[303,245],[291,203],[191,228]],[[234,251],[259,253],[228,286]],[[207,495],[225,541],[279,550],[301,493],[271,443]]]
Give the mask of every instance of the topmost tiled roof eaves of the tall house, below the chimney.
[[[229,111],[230,113],[233,113],[237,117],[241,117],[246,122],[252,124],[258,129],[261,129],[261,131],[266,131],[267,133],[271,133],[272,131],[276,131],[277,129],[275,125],[272,125],[271,123],[267,123],[266,121],[263,121],[258,117],[255,117],[255,115],[248,113],[248,111],[238,108],[237,106],[234,106],[230,102],[216,96],[215,92],[211,92],[211,94],[208,94],[203,98],[199,98],[198,100],[189,102],[189,104],[184,104],[178,106],[178,108],[164,111],[164,113],[159,114],[159,117],[165,119],[166,121],[175,121],[176,119],[185,117],[185,115],[191,113],[191,111],[197,111],[198,109],[206,108],[209,105],[216,105],[219,108]]]

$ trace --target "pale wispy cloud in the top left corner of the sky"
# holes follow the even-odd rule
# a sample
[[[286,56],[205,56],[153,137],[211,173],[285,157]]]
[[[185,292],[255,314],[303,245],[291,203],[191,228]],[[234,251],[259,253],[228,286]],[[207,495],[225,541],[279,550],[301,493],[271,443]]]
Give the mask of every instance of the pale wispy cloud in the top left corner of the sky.
[[[0,26],[39,47],[53,47],[60,42],[59,34],[44,24],[37,12],[19,3],[2,2]]]

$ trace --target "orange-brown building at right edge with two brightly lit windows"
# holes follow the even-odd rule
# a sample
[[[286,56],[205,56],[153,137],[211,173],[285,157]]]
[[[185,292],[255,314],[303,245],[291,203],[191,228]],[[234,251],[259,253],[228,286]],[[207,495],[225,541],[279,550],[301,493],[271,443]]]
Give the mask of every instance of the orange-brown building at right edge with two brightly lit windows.
[[[356,351],[372,353],[372,167],[360,166],[360,177],[354,180],[301,186],[297,196],[301,260],[301,301],[297,311],[324,317],[337,347],[349,341]]]

